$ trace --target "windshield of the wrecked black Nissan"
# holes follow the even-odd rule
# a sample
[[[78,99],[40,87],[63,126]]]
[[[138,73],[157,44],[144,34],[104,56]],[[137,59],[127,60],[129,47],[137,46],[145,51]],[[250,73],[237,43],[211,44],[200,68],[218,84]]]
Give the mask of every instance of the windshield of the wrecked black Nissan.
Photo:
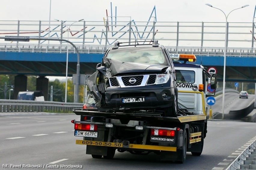
[[[106,57],[122,62],[168,65],[162,49],[155,47],[114,49]]]

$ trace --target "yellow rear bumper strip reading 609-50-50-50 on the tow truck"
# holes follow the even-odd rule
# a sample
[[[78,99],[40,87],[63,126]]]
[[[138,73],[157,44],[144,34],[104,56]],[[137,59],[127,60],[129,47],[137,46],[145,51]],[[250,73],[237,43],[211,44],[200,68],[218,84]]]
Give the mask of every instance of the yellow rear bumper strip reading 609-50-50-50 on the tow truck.
[[[177,148],[172,147],[172,146],[130,144],[129,147],[123,147],[122,143],[89,141],[89,140],[78,140],[78,139],[75,141],[75,144],[78,144],[78,145],[108,146],[108,147],[115,147],[115,148],[132,148],[132,149],[156,150],[156,151],[173,151],[173,152],[177,151]]]

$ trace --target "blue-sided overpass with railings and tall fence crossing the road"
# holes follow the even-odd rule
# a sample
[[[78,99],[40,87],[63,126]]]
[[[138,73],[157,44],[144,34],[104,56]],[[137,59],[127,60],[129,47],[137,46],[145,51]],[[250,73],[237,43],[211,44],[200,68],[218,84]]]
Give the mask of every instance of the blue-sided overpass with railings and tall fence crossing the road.
[[[47,22],[47,24],[46,24]],[[105,51],[115,41],[145,41],[158,39],[169,53],[195,54],[195,64],[215,67],[218,80],[223,79],[225,23],[212,22],[76,22],[72,30],[66,29],[73,21],[0,21],[2,36],[48,37],[48,40],[29,42],[6,42],[0,39],[0,74],[68,76],[76,73],[75,48],[63,41],[75,44],[80,53],[80,74],[90,75],[101,62]],[[73,22],[74,23],[74,22]],[[226,52],[226,81],[256,82],[255,25],[252,23],[229,23]],[[253,25],[253,26],[252,26]],[[70,27],[69,27],[70,28]],[[219,31],[214,31],[219,28]],[[71,37],[69,38],[69,35]],[[191,46],[192,45],[192,46]],[[24,77],[17,81],[24,82]],[[41,79],[41,83],[45,79]],[[39,83],[40,84],[40,83]],[[16,86],[17,87],[17,86]],[[20,90],[22,91],[22,90]],[[16,92],[17,93],[17,92]]]

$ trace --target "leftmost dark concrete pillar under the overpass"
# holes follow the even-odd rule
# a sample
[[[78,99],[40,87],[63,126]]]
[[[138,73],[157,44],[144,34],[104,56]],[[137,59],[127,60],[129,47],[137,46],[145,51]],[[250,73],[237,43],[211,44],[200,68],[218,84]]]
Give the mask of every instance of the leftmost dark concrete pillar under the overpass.
[[[27,91],[27,76],[22,74],[14,77],[14,100],[17,99],[19,91]]]

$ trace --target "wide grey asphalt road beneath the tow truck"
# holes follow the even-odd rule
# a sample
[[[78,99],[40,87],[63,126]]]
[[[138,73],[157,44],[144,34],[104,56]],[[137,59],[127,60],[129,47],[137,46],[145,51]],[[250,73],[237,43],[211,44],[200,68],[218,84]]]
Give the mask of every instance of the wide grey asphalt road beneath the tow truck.
[[[74,136],[71,120],[79,118],[75,114],[0,116],[0,169],[23,164],[44,169],[70,165],[95,170],[225,168],[237,156],[236,151],[241,152],[241,147],[256,135],[255,123],[212,120],[208,121],[202,155],[195,157],[187,152],[184,164],[160,161],[153,153],[141,156],[117,151],[113,160],[93,159],[86,155],[86,146],[75,144],[75,139],[82,137]]]

